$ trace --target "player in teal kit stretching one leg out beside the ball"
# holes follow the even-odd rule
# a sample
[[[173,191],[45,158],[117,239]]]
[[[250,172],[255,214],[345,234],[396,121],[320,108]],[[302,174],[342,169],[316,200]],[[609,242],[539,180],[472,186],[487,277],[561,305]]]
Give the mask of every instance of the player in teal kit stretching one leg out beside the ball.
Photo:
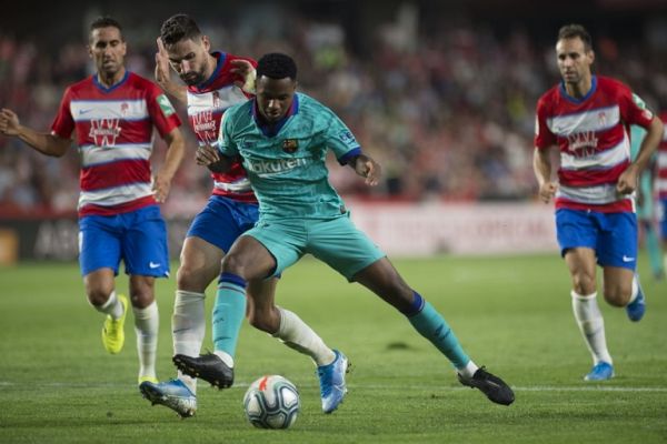
[[[511,404],[511,389],[468,357],[442,316],[352,224],[327,180],[327,151],[332,150],[340,164],[351,167],[369,185],[378,183],[380,167],[361,153],[352,133],[331,110],[296,92],[296,79],[290,57],[263,56],[257,67],[257,97],[229,109],[222,118],[217,143],[222,155],[201,152],[198,158],[207,165],[242,159],[259,201],[259,222],[222,261],[220,287],[245,294],[248,280],[278,275],[310,253],[404,313],[447,356],[461,384],[479,389],[495,403]],[[253,304],[271,305],[272,301],[255,300]],[[191,362],[195,375],[197,366],[197,360]]]

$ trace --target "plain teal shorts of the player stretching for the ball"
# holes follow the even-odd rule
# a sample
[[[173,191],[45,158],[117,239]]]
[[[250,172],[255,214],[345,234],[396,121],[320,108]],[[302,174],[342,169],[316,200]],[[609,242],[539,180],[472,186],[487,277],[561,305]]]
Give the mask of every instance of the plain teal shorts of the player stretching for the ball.
[[[357,230],[349,213],[323,220],[260,220],[243,235],[257,239],[273,255],[273,275],[310,253],[352,281],[355,274],[385,258],[385,253]]]

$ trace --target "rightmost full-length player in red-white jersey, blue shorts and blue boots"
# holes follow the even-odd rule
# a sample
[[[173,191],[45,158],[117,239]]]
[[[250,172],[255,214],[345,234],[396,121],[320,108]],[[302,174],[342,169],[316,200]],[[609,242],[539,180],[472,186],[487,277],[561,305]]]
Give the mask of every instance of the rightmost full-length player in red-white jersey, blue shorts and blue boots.
[[[575,320],[593,356],[586,381],[614,376],[605,324],[597,304],[596,263],[603,268],[605,300],[625,307],[630,321],[645,313],[636,273],[635,190],[663,134],[663,123],[641,109],[621,82],[591,73],[590,34],[579,24],[558,32],[563,81],[537,102],[535,175],[539,196],[556,201],[556,235],[573,282]],[[630,159],[630,125],[647,133]],[[558,180],[551,179],[551,150],[560,152]]]

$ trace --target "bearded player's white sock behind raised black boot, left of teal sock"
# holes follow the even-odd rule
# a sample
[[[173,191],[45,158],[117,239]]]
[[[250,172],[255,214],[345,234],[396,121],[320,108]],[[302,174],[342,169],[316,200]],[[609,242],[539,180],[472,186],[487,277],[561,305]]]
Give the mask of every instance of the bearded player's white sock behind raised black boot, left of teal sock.
[[[203,293],[176,291],[173,315],[171,316],[173,354],[199,356],[201,343],[206,335],[205,299],[206,294]],[[190,377],[181,371],[178,372],[178,379],[192,393],[197,393],[197,379]]]

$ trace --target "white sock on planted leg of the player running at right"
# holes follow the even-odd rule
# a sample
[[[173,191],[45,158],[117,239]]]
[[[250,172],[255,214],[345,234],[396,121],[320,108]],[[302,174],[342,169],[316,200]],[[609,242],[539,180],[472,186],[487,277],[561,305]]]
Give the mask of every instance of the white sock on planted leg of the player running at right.
[[[609,355],[605,339],[605,320],[597,304],[597,292],[584,296],[573,290],[571,295],[575,320],[577,320],[579,331],[593,355],[594,364],[600,361],[611,364],[611,355]]]

